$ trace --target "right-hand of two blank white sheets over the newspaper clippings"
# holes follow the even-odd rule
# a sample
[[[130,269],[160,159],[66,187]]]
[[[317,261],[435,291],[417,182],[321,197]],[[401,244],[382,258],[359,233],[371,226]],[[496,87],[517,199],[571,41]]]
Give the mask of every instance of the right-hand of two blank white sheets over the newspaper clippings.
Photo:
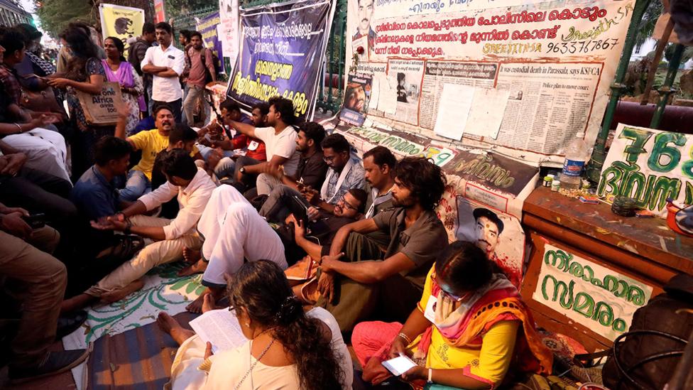
[[[510,91],[495,88],[477,88],[466,120],[465,134],[498,138],[503,113],[506,112]]]

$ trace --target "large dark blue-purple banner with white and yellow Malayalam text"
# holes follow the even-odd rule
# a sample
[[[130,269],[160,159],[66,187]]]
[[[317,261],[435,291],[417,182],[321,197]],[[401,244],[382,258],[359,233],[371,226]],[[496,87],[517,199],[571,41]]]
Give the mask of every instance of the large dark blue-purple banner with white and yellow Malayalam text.
[[[229,99],[250,111],[280,95],[298,119],[311,119],[334,15],[334,0],[288,1],[241,7],[241,46],[229,80]]]

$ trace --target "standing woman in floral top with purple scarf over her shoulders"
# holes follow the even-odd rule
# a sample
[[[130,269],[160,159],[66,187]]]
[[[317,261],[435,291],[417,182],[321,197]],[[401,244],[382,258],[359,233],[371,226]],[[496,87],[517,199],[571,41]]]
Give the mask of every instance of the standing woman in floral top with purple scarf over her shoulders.
[[[125,45],[122,40],[109,36],[104,40],[104,50],[106,50],[106,59],[101,62],[106,71],[107,81],[120,84],[123,102],[130,112],[125,126],[125,136],[130,136],[140,120],[140,111],[147,110],[143,97],[142,77],[125,60],[123,56]]]

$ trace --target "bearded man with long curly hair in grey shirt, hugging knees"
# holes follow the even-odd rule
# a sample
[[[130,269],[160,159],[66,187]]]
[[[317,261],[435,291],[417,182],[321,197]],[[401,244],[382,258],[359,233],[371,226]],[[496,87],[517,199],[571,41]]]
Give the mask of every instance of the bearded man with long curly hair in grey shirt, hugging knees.
[[[347,224],[322,257],[317,305],[327,308],[343,332],[372,313],[405,318],[417,302],[426,272],[447,232],[435,213],[446,180],[440,167],[425,158],[403,158],[394,167],[395,208]],[[386,232],[385,248],[365,244],[364,234]]]

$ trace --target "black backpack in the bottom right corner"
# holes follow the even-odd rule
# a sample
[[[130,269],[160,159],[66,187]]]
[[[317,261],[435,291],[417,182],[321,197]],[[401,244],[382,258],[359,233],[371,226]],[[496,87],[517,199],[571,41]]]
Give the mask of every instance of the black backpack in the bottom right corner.
[[[602,371],[609,389],[662,389],[677,369],[693,331],[693,276],[674,276],[664,289],[614,340]]]

